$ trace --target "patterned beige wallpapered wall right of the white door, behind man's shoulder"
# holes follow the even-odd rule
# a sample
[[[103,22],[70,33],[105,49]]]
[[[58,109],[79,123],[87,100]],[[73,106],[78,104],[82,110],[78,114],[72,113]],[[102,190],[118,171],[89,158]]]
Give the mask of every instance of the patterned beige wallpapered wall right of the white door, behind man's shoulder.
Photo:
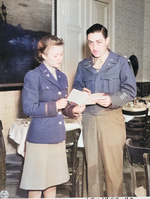
[[[143,79],[144,9],[145,0],[115,1],[115,52],[138,57],[137,80]]]

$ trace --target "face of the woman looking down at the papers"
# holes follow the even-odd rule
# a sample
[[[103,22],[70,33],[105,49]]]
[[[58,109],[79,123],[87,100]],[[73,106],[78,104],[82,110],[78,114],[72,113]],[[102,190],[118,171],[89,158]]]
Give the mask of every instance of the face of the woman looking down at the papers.
[[[60,68],[63,58],[63,45],[48,47],[42,56],[49,66]]]

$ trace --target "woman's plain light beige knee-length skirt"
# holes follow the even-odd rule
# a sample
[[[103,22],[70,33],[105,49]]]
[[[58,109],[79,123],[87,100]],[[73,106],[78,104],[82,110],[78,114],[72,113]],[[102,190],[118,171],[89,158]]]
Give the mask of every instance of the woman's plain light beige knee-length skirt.
[[[26,143],[20,188],[45,190],[68,180],[65,141],[58,144]]]

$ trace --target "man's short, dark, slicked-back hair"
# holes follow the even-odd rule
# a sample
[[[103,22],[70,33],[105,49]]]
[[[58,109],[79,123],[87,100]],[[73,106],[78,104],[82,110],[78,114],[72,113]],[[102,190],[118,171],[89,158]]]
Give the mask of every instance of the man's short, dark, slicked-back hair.
[[[92,25],[91,27],[89,27],[89,29],[87,29],[87,31],[86,31],[86,35],[88,36],[88,34],[94,33],[94,32],[102,32],[105,39],[108,36],[107,29],[99,23],[96,23],[96,24]]]

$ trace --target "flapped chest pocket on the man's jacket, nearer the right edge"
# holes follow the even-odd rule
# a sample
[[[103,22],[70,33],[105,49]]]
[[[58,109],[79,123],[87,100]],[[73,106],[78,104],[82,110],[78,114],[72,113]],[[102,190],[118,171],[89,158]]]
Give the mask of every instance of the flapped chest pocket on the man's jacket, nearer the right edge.
[[[102,87],[104,93],[114,93],[119,91],[120,80],[118,73],[103,74],[101,79],[102,79]]]

